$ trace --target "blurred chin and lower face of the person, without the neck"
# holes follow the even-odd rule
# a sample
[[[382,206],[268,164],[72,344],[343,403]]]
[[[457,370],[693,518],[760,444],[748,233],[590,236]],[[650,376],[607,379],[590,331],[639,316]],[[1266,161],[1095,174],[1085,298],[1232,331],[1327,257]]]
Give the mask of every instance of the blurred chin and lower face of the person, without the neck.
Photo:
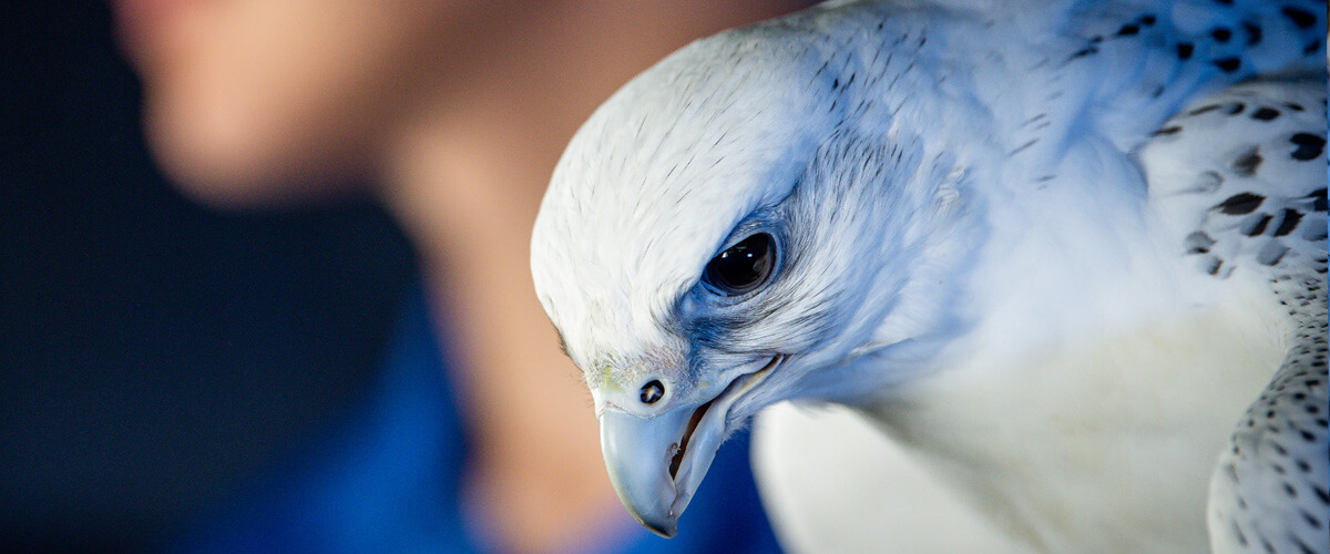
[[[463,0],[114,0],[154,154],[186,191],[270,203],[344,190],[458,31]],[[483,27],[483,25],[481,25]]]

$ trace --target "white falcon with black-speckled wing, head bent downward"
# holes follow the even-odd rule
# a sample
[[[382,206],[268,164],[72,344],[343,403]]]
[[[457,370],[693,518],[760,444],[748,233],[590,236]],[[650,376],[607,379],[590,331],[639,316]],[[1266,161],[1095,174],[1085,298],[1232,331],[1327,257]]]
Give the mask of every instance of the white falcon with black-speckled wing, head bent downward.
[[[955,509],[1326,551],[1325,41],[1323,0],[834,3],[646,70],[532,239],[620,498],[676,534],[793,401],[754,449],[791,550],[946,550]]]

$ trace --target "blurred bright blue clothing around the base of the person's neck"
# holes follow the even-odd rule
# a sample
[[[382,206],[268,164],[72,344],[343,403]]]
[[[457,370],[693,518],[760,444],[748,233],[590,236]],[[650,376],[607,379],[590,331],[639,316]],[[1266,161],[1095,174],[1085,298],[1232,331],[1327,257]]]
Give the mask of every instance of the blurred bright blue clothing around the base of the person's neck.
[[[325,440],[207,515],[172,551],[480,553],[462,504],[468,441],[424,294],[407,299],[374,391]],[[717,454],[674,539],[606,529],[598,553],[779,553],[746,436]],[[591,515],[589,515],[591,517]]]

